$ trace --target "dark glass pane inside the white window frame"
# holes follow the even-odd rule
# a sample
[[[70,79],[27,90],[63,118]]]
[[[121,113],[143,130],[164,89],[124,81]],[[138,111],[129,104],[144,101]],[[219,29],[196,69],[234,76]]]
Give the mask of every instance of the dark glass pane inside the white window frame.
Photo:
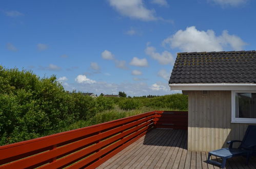
[[[235,93],[235,117],[256,118],[256,93]]]

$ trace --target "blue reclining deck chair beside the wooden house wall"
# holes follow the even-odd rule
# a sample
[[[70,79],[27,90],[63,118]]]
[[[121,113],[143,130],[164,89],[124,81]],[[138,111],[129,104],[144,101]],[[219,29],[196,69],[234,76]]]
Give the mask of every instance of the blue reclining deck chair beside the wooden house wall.
[[[235,149],[233,148],[234,142],[241,142],[240,146]],[[248,125],[248,128],[245,132],[244,138],[240,140],[232,140],[227,142],[229,145],[228,148],[223,148],[219,150],[214,150],[209,152],[207,163],[213,163],[220,165],[222,168],[225,167],[226,160],[235,156],[246,156],[246,165],[249,162],[250,156],[256,154],[256,125]],[[210,156],[217,156],[222,158],[222,163],[210,160]]]

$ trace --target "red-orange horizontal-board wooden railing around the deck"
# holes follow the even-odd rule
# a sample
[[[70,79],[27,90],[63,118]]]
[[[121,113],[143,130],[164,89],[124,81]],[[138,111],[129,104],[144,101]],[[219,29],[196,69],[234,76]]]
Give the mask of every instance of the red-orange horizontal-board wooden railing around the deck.
[[[169,113],[169,114],[168,114]],[[162,116],[179,113],[152,111],[68,132],[0,146],[0,168],[94,168],[155,127],[164,127]],[[167,115],[168,114],[168,115]],[[181,112],[185,119],[185,112]],[[166,117],[165,117],[166,118]],[[186,119],[187,121],[187,119]],[[185,123],[185,121],[184,121]],[[180,125],[174,129],[180,128]],[[187,124],[186,124],[187,126]],[[185,128],[184,128],[185,129]]]

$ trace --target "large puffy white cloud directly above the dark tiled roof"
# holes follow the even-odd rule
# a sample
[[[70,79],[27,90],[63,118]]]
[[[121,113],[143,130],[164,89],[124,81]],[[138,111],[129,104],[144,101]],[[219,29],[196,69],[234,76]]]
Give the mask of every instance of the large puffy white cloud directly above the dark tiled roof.
[[[229,35],[226,30],[216,36],[213,30],[200,31],[194,26],[179,30],[174,35],[164,39],[163,45],[179,48],[184,52],[223,51],[224,47],[231,50],[242,50],[246,43],[236,35]]]

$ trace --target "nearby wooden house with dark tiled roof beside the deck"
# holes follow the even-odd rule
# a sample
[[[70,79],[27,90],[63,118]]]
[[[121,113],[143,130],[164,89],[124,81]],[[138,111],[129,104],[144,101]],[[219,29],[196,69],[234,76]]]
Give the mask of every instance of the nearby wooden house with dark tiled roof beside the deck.
[[[188,150],[242,140],[256,124],[256,51],[178,53],[171,90],[188,95]]]

